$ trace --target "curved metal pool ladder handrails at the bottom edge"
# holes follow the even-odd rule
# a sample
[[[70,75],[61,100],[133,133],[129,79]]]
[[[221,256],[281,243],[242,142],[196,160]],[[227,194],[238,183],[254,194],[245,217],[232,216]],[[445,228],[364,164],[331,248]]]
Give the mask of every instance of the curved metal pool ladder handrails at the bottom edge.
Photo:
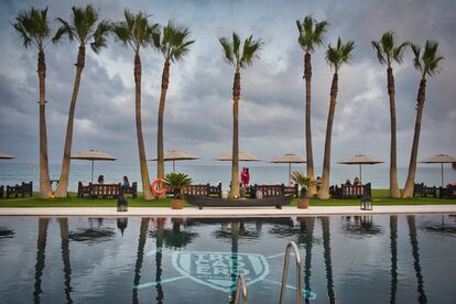
[[[301,280],[301,256],[300,256],[300,249],[297,248],[297,245],[294,241],[290,241],[286,245],[285,248],[285,261],[283,264],[283,274],[282,274],[282,286],[280,290],[280,301],[279,304],[285,303],[285,289],[286,289],[286,280],[289,278],[289,264],[290,264],[290,256],[291,250],[294,251],[294,257],[296,260],[296,303],[302,303],[302,280]],[[236,282],[236,297],[235,297],[235,304],[239,304],[240,300],[240,290],[242,287],[242,304],[247,304],[247,284],[246,279],[242,273],[238,275],[238,280]]]

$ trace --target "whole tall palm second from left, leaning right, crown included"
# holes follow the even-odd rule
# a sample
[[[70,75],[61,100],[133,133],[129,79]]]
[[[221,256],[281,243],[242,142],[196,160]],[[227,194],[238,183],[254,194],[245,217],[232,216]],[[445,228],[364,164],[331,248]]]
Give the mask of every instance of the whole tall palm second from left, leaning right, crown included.
[[[106,47],[106,36],[109,33],[109,22],[102,20],[98,21],[97,10],[88,4],[86,8],[72,8],[72,20],[67,22],[62,18],[57,18],[57,21],[62,24],[52,39],[53,43],[57,43],[63,36],[67,36],[69,41],[76,40],[79,44],[79,51],[77,53],[76,61],[76,76],[73,85],[72,101],[69,104],[68,121],[66,124],[66,137],[64,155],[62,161],[61,178],[58,181],[57,191],[55,196],[66,197],[68,191],[72,142],[73,142],[73,123],[75,120],[75,108],[77,96],[79,93],[80,76],[83,75],[84,65],[86,62],[86,44],[90,43],[91,50],[98,54],[101,48]]]

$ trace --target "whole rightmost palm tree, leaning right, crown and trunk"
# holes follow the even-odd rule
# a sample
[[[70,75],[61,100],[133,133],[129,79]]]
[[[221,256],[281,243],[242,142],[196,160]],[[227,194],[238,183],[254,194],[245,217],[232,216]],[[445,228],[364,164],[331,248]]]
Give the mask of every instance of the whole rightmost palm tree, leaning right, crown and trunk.
[[[426,99],[426,76],[434,76],[441,72],[441,62],[444,56],[438,54],[438,43],[426,40],[423,53],[421,47],[412,44],[412,51],[415,55],[413,64],[421,73],[420,88],[416,97],[416,120],[415,132],[413,134],[412,152],[410,155],[409,175],[406,176],[404,192],[402,197],[411,197],[413,195],[413,186],[416,174],[416,158],[420,143],[421,120],[423,117],[424,101]]]

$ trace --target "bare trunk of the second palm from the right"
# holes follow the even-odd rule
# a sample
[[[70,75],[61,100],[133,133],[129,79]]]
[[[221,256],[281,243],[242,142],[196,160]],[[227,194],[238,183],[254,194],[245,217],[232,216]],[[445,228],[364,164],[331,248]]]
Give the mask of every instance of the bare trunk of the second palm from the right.
[[[394,76],[392,68],[388,67],[388,95],[390,96],[390,115],[391,115],[391,151],[390,151],[390,197],[401,197],[398,184],[398,146],[395,140],[395,88],[394,88]]]

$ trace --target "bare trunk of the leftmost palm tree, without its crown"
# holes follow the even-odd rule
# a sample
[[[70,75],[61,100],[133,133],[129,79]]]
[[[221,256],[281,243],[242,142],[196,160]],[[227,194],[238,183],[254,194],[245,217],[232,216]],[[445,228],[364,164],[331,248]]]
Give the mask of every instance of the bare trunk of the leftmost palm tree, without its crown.
[[[50,181],[50,165],[47,158],[47,131],[46,131],[46,61],[44,52],[39,53],[37,63],[40,86],[40,197],[47,198],[52,195]]]

